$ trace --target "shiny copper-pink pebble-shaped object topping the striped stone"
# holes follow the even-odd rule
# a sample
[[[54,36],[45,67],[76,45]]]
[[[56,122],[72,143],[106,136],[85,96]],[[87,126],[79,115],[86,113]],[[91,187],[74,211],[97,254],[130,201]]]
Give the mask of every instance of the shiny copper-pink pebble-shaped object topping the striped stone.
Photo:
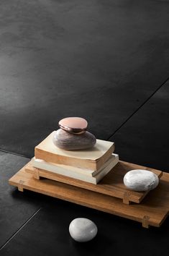
[[[86,131],[88,122],[81,117],[66,117],[59,121],[59,126],[70,133],[83,133]]]

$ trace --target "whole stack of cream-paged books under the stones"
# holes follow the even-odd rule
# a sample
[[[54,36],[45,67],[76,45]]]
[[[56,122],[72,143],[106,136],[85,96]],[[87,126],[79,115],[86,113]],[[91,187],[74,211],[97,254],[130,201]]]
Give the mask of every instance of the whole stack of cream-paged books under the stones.
[[[61,175],[97,184],[119,162],[119,155],[114,154],[114,142],[96,140],[93,148],[62,150],[53,144],[53,134],[35,147],[35,157],[27,166],[27,172],[35,177]]]

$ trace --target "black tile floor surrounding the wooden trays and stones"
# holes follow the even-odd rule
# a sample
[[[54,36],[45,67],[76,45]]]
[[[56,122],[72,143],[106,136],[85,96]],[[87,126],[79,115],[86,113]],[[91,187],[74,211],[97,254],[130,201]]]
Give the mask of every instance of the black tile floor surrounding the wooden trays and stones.
[[[142,229],[8,184],[65,116],[169,172],[168,14],[168,1],[0,1],[0,255],[168,255],[169,219]],[[96,222],[92,242],[70,238],[78,216]]]

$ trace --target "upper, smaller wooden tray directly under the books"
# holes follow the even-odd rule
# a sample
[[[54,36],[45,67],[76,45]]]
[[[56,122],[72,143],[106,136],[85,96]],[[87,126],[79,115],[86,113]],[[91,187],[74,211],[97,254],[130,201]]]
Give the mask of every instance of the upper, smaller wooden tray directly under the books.
[[[65,184],[70,184],[76,187],[81,187],[83,189],[88,189],[94,192],[99,192],[104,195],[110,195],[111,197],[121,198],[125,204],[129,204],[129,202],[137,202],[140,203],[142,199],[147,195],[147,192],[134,192],[127,189],[123,183],[124,174],[127,171],[132,169],[145,169],[152,171],[153,173],[157,174],[160,178],[163,172],[158,171],[152,168],[147,168],[145,166],[138,166],[133,163],[127,163],[123,161],[119,161],[114,168],[106,174],[104,179],[101,179],[101,182],[98,184],[91,184],[89,182],[83,182],[78,179],[73,179],[67,176],[63,176],[60,174],[55,174],[52,171],[45,171],[40,168],[32,167],[31,163],[29,162],[25,167],[25,171],[30,174],[33,174],[35,179],[40,179],[40,177],[44,177],[47,179],[52,179],[57,182],[63,182]]]

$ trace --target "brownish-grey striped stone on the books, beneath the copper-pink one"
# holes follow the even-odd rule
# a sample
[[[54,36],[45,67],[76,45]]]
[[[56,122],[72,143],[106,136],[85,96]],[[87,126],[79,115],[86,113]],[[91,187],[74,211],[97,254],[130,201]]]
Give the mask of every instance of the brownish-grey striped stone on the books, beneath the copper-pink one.
[[[63,150],[83,150],[92,148],[96,144],[96,137],[91,132],[84,132],[81,135],[73,135],[58,129],[52,138],[53,143]]]

